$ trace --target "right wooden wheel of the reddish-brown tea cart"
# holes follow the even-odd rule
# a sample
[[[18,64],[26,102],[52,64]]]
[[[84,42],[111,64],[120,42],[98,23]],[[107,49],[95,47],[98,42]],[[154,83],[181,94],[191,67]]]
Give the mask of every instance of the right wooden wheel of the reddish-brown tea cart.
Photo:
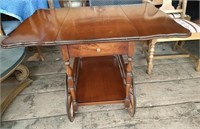
[[[135,96],[135,86],[132,84],[130,91],[129,91],[129,99],[130,99],[130,105],[128,108],[128,112],[131,117],[135,115],[135,108],[136,108],[136,96]]]

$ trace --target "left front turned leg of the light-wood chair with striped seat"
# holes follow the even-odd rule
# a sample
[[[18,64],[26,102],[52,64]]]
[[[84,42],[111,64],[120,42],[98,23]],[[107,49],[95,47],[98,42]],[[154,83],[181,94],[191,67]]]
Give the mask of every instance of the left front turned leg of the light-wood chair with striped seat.
[[[153,57],[154,57],[154,51],[155,51],[155,44],[156,40],[151,40],[149,43],[149,57],[147,62],[147,73],[151,74],[153,69]]]

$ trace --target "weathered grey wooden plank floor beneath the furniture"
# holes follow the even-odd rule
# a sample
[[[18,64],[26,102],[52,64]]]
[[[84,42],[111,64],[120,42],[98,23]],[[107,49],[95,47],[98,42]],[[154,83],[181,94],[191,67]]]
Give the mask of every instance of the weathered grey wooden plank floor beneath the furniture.
[[[158,44],[157,53],[174,53]],[[134,59],[137,109],[131,118],[123,104],[84,106],[69,122],[64,98],[65,68],[57,47],[42,49],[44,62],[24,62],[33,83],[2,116],[2,129],[200,129],[200,72],[191,59],[154,61],[151,75],[139,51]],[[28,53],[29,56],[31,52]]]

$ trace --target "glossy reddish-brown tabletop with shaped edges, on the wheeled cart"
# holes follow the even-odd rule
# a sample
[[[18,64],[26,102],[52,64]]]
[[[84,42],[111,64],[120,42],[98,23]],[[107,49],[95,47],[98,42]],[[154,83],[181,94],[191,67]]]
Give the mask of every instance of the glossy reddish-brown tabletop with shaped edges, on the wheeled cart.
[[[3,47],[187,37],[190,31],[149,3],[41,9],[3,42]]]

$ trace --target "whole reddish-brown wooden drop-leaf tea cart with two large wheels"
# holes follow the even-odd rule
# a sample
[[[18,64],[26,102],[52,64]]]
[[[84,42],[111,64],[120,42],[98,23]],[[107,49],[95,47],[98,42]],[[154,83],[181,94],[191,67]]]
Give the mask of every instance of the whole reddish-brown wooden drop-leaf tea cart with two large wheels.
[[[134,41],[190,34],[167,14],[144,3],[41,9],[20,24],[1,45],[61,46],[67,75],[66,108],[69,120],[73,121],[78,106],[89,104],[121,102],[133,116]],[[128,56],[127,64],[122,55]],[[74,65],[69,63],[72,58]]]

